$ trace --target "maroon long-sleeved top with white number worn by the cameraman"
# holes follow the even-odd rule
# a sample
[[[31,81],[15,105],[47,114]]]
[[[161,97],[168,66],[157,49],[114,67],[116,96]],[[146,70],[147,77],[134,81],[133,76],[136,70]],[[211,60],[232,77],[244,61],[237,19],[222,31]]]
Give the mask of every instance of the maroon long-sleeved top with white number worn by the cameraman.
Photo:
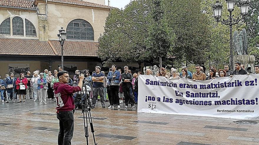
[[[81,91],[81,88],[79,86],[74,87],[60,82],[54,83],[53,88],[57,102],[57,113],[59,111],[72,111],[75,108],[73,93]]]

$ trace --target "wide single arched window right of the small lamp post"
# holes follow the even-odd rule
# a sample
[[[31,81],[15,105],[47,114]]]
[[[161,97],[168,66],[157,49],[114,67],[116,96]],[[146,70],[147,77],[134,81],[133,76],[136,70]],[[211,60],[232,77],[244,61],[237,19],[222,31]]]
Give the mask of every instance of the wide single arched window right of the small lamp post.
[[[87,21],[75,19],[67,25],[67,39],[94,40],[94,30]]]

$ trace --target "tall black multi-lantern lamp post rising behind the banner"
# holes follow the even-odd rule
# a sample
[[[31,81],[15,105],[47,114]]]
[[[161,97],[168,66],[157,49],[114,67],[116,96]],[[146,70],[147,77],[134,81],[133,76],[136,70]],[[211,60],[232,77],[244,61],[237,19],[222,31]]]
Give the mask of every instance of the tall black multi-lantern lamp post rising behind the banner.
[[[223,18],[223,20],[221,21],[221,11],[222,11],[222,7],[223,5],[220,4],[220,2],[217,0],[216,4],[213,6],[213,10],[214,10],[214,17],[216,19],[217,22],[221,22],[221,24],[223,25],[229,25],[229,30],[230,30],[230,70],[234,69],[234,64],[233,64],[233,36],[232,36],[232,25],[235,25],[237,23],[239,23],[241,20],[245,20],[245,16],[248,14],[248,6],[249,3],[247,0],[242,0],[240,2],[240,9],[241,9],[241,17],[238,16],[237,18],[234,18],[234,15],[232,15],[232,12],[234,10],[234,6],[235,6],[235,0],[226,0],[227,2],[227,6],[228,6],[228,11],[229,11],[229,16],[228,19],[225,20]]]

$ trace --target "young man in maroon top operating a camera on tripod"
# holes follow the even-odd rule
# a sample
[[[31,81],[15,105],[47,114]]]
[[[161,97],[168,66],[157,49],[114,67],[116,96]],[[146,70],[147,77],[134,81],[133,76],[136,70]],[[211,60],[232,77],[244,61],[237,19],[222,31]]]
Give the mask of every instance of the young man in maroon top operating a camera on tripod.
[[[81,91],[84,74],[79,76],[78,86],[69,86],[69,75],[67,71],[59,71],[57,74],[59,82],[54,83],[54,94],[57,102],[57,119],[59,120],[58,145],[71,145],[74,132],[75,108],[73,93]]]

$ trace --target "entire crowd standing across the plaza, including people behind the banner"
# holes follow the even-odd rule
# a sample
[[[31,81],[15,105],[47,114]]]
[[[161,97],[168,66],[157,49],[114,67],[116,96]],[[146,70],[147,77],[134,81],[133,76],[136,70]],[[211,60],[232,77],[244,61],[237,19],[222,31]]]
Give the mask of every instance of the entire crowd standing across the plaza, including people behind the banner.
[[[228,64],[225,64],[224,69],[219,69],[218,71],[215,66],[211,66],[207,74],[204,73],[203,68],[199,64],[195,66],[195,69],[196,72],[192,74],[192,72],[187,70],[186,66],[183,67],[180,72],[177,72],[174,68],[171,68],[170,72],[167,72],[167,70],[162,67],[154,76],[164,76],[168,79],[186,78],[192,79],[193,81],[204,81],[217,77],[233,77],[234,75],[250,74],[240,62],[235,62],[234,71],[229,70]],[[58,70],[62,71],[63,68],[59,67]],[[1,79],[0,76],[2,102],[16,102],[16,100],[19,99],[17,103],[21,103],[25,102],[26,98],[33,99],[33,102],[39,101],[39,105],[46,105],[47,99],[56,102],[53,85],[59,82],[57,77],[58,70],[55,69],[53,73],[47,69],[41,73],[39,70],[36,70],[33,72],[33,75],[31,75],[30,71],[26,71],[25,73],[21,73],[18,78],[14,77],[13,72],[6,74],[4,79]],[[254,74],[259,74],[258,65],[254,66],[254,70]],[[101,67],[99,66],[95,67],[95,71],[93,71],[92,75],[90,75],[88,71],[85,73],[84,84],[92,88],[89,97],[92,100],[92,108],[95,108],[99,94],[102,108],[105,108],[105,102],[109,102],[108,109],[121,108],[120,104],[123,103],[125,103],[124,109],[129,108],[129,105],[132,109],[136,109],[134,105],[137,104],[138,100],[138,76],[141,75],[142,72],[132,74],[128,66],[124,66],[123,71],[122,73],[121,69],[117,70],[116,65],[113,64],[107,76],[105,76],[105,72],[101,71]],[[77,86],[79,83],[79,70],[76,70],[75,74],[73,79],[69,78],[67,84],[70,86]],[[151,69],[146,69],[145,75],[152,75]],[[73,97],[75,99],[77,97],[76,94],[74,94]],[[37,100],[37,98],[39,98],[39,100]]]

